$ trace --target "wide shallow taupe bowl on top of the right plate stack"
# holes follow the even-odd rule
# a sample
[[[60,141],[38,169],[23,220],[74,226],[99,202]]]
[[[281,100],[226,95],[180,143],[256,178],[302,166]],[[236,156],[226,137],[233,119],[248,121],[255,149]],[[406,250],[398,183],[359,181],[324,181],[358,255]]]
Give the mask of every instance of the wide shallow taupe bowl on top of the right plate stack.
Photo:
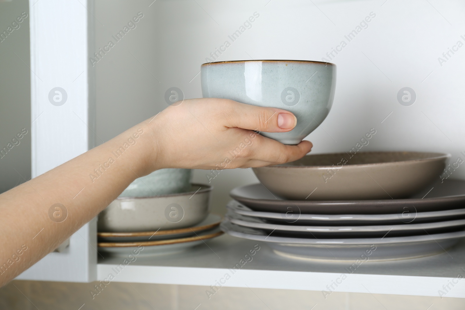
[[[395,199],[438,179],[448,158],[425,152],[318,154],[253,171],[268,190],[287,199]]]

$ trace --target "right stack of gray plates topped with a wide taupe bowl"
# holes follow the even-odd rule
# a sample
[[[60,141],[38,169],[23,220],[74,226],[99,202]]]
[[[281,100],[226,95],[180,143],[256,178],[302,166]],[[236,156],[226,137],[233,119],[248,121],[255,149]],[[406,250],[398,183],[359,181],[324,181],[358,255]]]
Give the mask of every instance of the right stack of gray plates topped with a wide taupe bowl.
[[[222,230],[325,261],[424,257],[465,237],[465,181],[448,179],[449,155],[351,155],[254,168],[261,184],[231,191]]]

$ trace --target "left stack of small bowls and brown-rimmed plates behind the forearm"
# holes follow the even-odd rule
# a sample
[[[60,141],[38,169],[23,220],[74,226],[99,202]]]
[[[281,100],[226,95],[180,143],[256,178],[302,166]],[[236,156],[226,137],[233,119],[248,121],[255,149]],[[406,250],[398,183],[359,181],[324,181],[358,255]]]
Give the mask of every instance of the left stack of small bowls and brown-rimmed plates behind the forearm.
[[[134,181],[99,214],[103,254],[152,256],[203,244],[223,232],[210,214],[208,185],[190,184],[190,171],[164,169]]]

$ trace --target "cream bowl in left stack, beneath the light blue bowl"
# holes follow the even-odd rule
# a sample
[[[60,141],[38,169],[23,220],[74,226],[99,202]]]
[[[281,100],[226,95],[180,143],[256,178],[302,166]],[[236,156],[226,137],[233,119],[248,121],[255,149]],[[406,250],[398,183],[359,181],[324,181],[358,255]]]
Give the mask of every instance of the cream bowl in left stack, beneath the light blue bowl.
[[[189,191],[151,197],[119,197],[99,214],[98,231],[157,231],[203,221],[210,212],[212,186],[192,184]]]

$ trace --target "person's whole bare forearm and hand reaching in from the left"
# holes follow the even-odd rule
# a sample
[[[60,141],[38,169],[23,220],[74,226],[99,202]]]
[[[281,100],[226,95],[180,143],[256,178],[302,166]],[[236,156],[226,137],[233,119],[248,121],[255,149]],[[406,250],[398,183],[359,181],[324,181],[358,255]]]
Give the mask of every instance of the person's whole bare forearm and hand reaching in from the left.
[[[308,141],[283,145],[260,132],[288,132],[292,113],[225,99],[169,106],[110,141],[0,194],[0,262],[27,246],[0,286],[53,251],[97,216],[136,178],[162,168],[225,169],[285,163],[304,156]],[[63,221],[53,206],[67,210]],[[39,233],[40,232],[40,233]]]

